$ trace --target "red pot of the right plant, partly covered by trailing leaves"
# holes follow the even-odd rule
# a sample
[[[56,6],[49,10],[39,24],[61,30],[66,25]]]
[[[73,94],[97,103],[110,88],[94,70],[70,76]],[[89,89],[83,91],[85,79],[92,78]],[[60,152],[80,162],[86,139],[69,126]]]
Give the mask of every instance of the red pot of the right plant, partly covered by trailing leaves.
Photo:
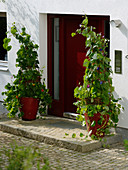
[[[95,135],[97,137],[104,137],[104,132],[102,130],[106,129],[108,121],[109,121],[109,115],[103,115],[104,120],[102,121],[101,124],[98,124],[98,121],[101,119],[100,113],[96,113],[94,114],[93,117],[89,117],[87,113],[84,114],[85,116],[85,121],[86,121],[86,126],[87,126],[87,130],[88,132],[91,131],[90,136]],[[92,127],[91,124],[92,122],[95,121],[95,126]]]

